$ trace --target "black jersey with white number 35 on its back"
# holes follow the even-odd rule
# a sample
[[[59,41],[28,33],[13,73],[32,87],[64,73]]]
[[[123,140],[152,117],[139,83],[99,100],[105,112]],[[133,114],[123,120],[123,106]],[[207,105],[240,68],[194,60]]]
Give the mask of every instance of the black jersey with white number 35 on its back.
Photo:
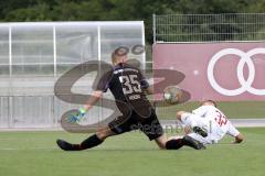
[[[151,105],[145,94],[148,86],[138,68],[128,64],[118,64],[100,78],[97,90],[106,92],[109,89],[119,109],[121,107],[117,101],[127,103],[138,114],[147,118],[151,113]]]

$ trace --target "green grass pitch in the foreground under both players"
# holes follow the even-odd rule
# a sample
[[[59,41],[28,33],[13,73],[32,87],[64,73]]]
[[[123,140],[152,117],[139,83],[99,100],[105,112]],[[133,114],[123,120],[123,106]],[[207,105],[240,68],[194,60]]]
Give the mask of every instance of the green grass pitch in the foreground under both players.
[[[100,146],[64,152],[57,138],[80,142],[87,134],[0,132],[1,176],[264,176],[265,129],[240,129],[246,140],[225,138],[208,150],[158,150],[139,132],[109,138]],[[170,135],[170,134],[169,134]]]

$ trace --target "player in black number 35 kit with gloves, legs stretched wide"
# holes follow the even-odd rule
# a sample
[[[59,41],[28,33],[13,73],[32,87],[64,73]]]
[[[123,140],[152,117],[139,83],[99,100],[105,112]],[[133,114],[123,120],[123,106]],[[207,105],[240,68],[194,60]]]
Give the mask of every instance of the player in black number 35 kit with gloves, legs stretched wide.
[[[127,54],[123,52],[123,50],[118,48],[112,54],[113,70],[106,73],[100,78],[96,90],[93,92],[93,97],[83,109],[80,109],[78,114],[73,120],[76,122],[80,118],[84,117],[107,89],[115,97],[116,105],[123,116],[109,122],[106,128],[98,129],[95,134],[81,144],[71,144],[64,140],[57,140],[56,143],[62,150],[82,151],[91,148],[99,145],[108,136],[137,129],[142,131],[150,141],[155,140],[160,148],[174,148],[174,145],[177,145],[172,140],[168,143],[156,112],[146,97],[146,94],[153,92],[152,88],[148,85],[138,68],[126,64]],[[190,143],[183,141],[183,144],[190,145]],[[190,146],[194,144],[192,143]]]

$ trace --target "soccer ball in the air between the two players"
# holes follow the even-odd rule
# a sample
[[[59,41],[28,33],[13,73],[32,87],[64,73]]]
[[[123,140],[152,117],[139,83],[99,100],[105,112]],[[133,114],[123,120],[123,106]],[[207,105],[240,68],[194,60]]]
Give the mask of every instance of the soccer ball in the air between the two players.
[[[181,97],[182,90],[178,86],[168,86],[163,89],[163,99],[167,103],[178,103]]]

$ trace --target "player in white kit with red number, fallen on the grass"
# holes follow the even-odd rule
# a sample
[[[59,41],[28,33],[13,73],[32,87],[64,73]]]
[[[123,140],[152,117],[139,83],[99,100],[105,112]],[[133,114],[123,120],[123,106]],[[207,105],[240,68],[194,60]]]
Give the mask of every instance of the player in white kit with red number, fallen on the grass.
[[[241,143],[244,139],[212,100],[203,101],[201,107],[192,113],[178,111],[177,119],[184,125],[186,136],[203,145],[218,143],[225,134],[234,138],[233,143]],[[171,139],[181,138],[172,136]]]

